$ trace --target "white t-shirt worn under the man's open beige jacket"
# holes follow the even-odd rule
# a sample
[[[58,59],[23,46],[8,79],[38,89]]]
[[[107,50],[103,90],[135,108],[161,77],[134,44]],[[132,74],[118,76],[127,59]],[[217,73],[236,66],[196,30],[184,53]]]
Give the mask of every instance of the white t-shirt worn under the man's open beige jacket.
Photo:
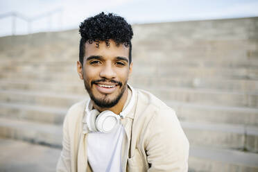
[[[128,89],[128,105],[132,93]],[[111,132],[89,132],[87,136],[87,157],[94,172],[121,172],[121,149],[125,130],[121,123]]]

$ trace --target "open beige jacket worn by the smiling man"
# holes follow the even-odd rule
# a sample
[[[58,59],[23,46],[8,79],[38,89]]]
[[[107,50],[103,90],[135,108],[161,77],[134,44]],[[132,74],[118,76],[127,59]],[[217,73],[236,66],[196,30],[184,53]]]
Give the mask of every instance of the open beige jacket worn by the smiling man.
[[[126,135],[122,146],[123,171],[187,171],[189,142],[175,112],[160,99],[136,89],[135,105],[121,119]],[[73,105],[65,117],[62,152],[57,171],[91,171],[87,163],[86,101]]]

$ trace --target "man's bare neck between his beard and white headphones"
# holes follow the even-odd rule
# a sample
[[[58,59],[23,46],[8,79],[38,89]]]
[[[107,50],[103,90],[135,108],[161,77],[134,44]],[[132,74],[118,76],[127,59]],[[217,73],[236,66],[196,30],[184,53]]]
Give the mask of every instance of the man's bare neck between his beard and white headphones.
[[[103,107],[98,107],[95,103],[93,103],[94,109],[98,110],[99,112],[103,112],[105,110],[110,110],[114,112],[115,114],[120,114],[123,110],[123,106],[126,104],[126,100],[128,97],[128,87],[126,87],[125,91],[123,92],[123,96],[121,96],[119,102],[117,105],[114,105],[113,107],[110,108],[103,108]]]

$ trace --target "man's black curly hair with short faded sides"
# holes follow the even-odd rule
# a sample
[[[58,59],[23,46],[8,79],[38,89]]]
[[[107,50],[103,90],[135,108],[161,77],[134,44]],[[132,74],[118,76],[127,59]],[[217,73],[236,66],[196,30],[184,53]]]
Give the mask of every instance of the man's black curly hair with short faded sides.
[[[96,43],[99,46],[100,41],[105,41],[107,46],[110,46],[110,39],[114,40],[117,45],[124,44],[129,46],[129,63],[132,61],[132,26],[126,22],[123,17],[108,13],[105,15],[101,12],[94,17],[85,19],[80,24],[80,52],[79,60],[83,64],[83,58],[85,55],[85,43]]]

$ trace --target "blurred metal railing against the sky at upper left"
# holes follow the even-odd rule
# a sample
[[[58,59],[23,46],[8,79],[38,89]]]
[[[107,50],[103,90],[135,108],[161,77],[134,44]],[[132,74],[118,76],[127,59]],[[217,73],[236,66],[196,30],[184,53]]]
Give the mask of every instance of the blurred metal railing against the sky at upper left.
[[[41,15],[37,15],[35,17],[26,17],[25,15],[22,15],[19,12],[7,12],[5,14],[0,15],[0,19],[6,18],[6,17],[12,17],[12,35],[16,35],[17,31],[17,19],[22,19],[25,22],[27,22],[27,32],[28,34],[31,34],[33,22],[36,22],[39,19],[42,18],[48,18],[49,19],[49,31],[51,31],[52,28],[52,16],[55,15],[55,13],[59,13],[59,28],[62,30],[62,8],[57,8],[55,10],[51,10],[49,12],[44,12]]]

